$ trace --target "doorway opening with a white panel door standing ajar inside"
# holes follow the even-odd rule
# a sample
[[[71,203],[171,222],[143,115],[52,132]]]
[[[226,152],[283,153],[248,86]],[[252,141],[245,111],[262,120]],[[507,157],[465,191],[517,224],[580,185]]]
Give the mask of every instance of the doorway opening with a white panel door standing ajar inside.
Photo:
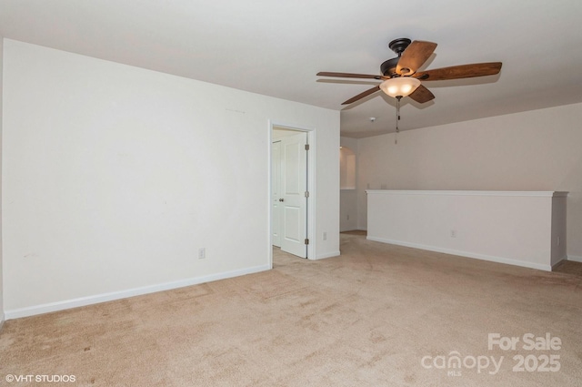
[[[297,257],[314,258],[314,148],[308,129],[270,125],[271,246]],[[271,264],[272,264],[272,248]]]

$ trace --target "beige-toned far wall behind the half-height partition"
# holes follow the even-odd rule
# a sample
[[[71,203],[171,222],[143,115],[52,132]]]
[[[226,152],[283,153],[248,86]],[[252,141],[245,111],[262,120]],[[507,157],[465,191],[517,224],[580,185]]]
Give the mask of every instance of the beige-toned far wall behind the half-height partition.
[[[567,254],[582,257],[582,104],[358,141],[358,227],[371,189],[568,191]]]

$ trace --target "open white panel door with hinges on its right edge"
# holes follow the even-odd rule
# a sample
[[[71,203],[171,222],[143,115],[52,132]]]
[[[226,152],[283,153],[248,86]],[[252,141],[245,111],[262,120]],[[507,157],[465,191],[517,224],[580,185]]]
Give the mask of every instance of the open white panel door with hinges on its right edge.
[[[281,250],[307,257],[307,134],[281,141],[282,229]]]

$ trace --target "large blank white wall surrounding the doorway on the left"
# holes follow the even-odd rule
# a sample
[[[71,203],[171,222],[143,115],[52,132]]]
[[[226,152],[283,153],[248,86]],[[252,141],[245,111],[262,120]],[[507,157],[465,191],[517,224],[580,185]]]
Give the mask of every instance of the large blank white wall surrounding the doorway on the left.
[[[269,120],[316,130],[339,250],[339,112],[7,39],[4,65],[6,317],[268,269]]]

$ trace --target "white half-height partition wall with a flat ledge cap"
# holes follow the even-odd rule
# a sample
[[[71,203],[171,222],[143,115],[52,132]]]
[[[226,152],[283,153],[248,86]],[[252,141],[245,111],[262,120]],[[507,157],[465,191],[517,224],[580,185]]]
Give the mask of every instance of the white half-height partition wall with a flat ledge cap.
[[[367,239],[552,270],[567,192],[368,189]]]

